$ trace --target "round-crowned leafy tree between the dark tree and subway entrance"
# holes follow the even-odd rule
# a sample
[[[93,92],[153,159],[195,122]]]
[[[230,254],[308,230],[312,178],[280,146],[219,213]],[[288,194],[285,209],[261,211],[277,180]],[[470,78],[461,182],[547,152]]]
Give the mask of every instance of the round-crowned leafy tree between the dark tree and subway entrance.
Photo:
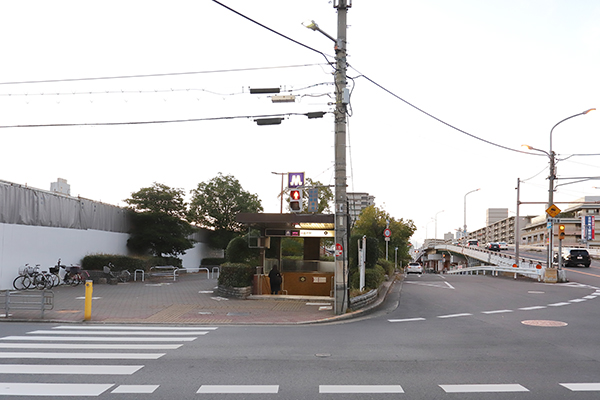
[[[239,213],[263,211],[258,195],[245,191],[232,175],[219,174],[192,190],[188,219],[212,229],[211,243],[225,248],[229,241],[243,233],[245,226],[236,221]]]

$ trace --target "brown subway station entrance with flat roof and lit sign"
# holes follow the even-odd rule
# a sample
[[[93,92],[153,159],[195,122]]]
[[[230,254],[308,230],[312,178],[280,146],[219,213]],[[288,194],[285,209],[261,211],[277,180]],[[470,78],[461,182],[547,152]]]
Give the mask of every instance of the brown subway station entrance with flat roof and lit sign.
[[[236,220],[248,226],[250,246],[260,249],[260,266],[254,276],[253,294],[270,294],[268,274],[277,266],[283,277],[281,293],[286,295],[335,295],[335,262],[322,261],[322,239],[335,239],[333,214],[238,214]],[[282,255],[284,238],[300,239],[301,260]],[[271,249],[267,258],[267,249]]]

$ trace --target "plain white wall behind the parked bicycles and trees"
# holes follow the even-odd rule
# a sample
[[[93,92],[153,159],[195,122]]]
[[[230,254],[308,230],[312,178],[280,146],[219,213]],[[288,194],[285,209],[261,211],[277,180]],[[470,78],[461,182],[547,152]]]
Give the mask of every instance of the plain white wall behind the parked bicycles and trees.
[[[31,225],[0,224],[0,290],[12,289],[12,282],[25,264],[40,264],[42,270],[56,265],[80,264],[89,254],[128,255],[127,233],[98,230],[51,228]],[[210,249],[204,243],[183,255],[183,267],[200,266]]]

